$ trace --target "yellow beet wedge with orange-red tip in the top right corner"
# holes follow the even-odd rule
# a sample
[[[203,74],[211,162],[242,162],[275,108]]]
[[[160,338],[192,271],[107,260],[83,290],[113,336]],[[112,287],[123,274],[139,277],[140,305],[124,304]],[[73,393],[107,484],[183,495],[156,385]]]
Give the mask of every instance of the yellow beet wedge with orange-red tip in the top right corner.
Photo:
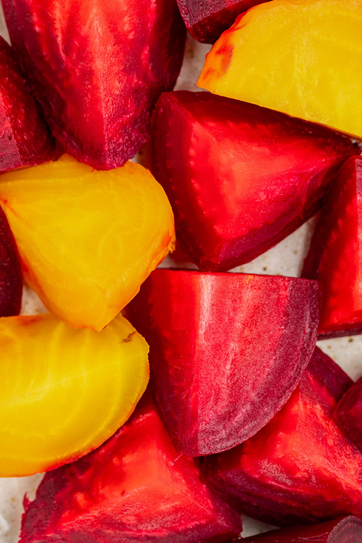
[[[273,0],[239,16],[198,86],[362,138],[361,0]]]

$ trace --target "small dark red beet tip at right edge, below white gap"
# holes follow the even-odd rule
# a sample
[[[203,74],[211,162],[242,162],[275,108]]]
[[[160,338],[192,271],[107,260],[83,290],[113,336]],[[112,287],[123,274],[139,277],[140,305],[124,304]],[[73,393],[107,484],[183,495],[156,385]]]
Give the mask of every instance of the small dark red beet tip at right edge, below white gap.
[[[334,419],[360,451],[362,451],[362,377],[341,397]]]

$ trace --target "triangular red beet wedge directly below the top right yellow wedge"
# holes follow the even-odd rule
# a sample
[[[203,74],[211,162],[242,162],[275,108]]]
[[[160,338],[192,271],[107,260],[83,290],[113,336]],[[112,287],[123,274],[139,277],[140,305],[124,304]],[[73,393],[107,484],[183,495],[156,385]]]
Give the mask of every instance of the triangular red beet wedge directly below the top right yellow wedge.
[[[244,264],[293,232],[353,154],[327,128],[211,93],[165,93],[155,110],[153,173],[204,270]]]

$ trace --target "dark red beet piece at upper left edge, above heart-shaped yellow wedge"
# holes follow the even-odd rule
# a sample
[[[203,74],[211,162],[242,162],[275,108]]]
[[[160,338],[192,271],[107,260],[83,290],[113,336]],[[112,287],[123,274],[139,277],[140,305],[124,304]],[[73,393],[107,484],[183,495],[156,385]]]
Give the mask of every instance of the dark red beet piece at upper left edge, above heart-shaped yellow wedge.
[[[52,158],[54,141],[0,36],[0,172]]]

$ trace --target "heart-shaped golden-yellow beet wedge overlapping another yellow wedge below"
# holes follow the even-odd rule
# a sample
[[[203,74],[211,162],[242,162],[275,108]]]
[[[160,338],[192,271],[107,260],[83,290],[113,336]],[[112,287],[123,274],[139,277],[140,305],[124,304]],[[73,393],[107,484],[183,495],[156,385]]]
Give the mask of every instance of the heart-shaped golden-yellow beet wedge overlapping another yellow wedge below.
[[[103,329],[174,245],[167,196],[133,162],[98,172],[64,155],[5,173],[0,204],[26,281],[75,328]]]

